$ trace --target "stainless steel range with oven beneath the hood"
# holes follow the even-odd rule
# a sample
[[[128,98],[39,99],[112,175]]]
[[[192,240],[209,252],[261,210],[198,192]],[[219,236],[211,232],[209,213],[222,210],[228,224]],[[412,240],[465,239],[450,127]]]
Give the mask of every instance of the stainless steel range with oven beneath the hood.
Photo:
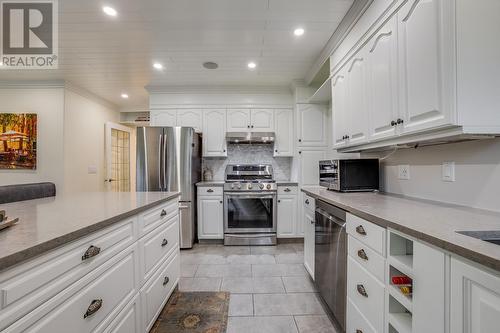
[[[224,244],[275,245],[277,185],[270,165],[228,165]]]

